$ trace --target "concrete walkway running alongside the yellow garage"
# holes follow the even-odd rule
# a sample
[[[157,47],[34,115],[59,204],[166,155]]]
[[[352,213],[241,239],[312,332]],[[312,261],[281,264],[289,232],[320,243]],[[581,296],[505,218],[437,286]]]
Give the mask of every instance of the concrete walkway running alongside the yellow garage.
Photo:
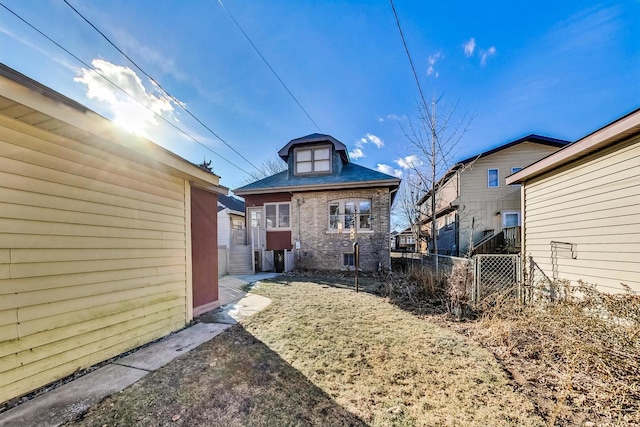
[[[72,420],[105,397],[263,310],[271,300],[247,294],[243,288],[277,276],[279,274],[260,273],[221,277],[218,281],[221,307],[200,316],[196,319],[199,323],[1,413],[0,426],[55,427]]]

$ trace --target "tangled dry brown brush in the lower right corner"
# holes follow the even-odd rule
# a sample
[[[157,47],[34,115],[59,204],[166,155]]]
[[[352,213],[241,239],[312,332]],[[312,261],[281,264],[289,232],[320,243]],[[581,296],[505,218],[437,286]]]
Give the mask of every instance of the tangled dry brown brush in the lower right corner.
[[[640,425],[640,297],[574,288],[451,324],[489,347],[548,425]]]

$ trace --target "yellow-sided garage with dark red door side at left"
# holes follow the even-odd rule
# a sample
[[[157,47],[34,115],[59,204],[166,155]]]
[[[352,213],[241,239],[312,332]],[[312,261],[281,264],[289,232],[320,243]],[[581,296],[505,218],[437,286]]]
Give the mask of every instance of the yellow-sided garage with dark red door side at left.
[[[0,64],[0,402],[219,305],[218,180]]]

